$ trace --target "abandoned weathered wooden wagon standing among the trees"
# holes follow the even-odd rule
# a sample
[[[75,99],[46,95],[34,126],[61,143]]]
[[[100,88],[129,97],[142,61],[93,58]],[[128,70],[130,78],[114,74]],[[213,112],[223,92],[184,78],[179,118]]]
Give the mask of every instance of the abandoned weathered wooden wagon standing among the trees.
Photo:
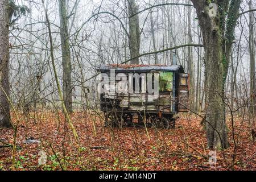
[[[175,127],[186,112],[188,74],[179,65],[101,65],[98,86],[105,125]]]

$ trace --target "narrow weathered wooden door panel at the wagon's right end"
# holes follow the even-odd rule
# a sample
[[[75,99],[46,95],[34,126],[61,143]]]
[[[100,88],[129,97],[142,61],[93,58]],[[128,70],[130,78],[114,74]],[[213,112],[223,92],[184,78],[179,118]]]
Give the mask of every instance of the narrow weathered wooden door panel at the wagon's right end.
[[[188,109],[188,74],[179,73],[179,112],[187,112]]]

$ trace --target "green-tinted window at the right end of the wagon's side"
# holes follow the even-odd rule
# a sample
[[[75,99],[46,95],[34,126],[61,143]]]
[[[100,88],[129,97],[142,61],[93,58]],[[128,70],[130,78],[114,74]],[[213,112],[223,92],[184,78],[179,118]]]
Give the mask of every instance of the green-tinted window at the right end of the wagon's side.
[[[172,91],[172,72],[160,72],[159,75],[159,92],[171,92]]]

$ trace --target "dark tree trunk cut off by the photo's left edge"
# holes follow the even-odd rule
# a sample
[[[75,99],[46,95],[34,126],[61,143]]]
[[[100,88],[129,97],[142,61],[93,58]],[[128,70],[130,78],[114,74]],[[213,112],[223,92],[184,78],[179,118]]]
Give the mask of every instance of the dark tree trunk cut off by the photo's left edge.
[[[0,0],[0,127],[11,127],[9,91],[9,10],[8,0]]]

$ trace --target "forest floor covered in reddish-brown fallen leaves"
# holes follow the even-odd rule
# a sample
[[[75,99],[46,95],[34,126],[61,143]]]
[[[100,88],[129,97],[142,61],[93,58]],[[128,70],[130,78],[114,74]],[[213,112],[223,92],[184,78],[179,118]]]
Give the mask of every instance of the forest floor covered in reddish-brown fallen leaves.
[[[71,117],[79,142],[61,113],[31,113],[26,118],[19,115],[16,146],[20,148],[15,150],[15,163],[12,148],[0,148],[0,170],[229,170],[232,166],[235,170],[256,170],[256,142],[250,138],[248,123],[238,117],[234,123],[237,150],[227,119],[230,147],[217,151],[217,164],[212,167],[205,130],[194,115],[180,115],[175,129],[148,128],[148,135],[144,128],[104,127],[103,119],[96,114],[77,112]],[[28,138],[40,142],[25,144]],[[1,128],[0,139],[13,144],[14,130]],[[47,163],[39,166],[42,150]]]

